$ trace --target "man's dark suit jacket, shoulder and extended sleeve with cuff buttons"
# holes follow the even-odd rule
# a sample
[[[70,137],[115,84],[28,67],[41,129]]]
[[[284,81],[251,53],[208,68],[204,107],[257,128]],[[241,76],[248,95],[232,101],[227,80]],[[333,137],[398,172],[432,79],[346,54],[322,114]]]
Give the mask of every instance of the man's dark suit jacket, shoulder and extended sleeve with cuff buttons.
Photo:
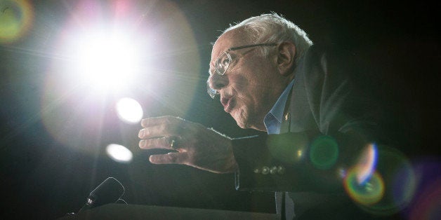
[[[342,190],[338,172],[381,136],[378,106],[356,83],[362,69],[350,60],[335,50],[308,50],[296,67],[282,134],[233,139],[238,190]]]

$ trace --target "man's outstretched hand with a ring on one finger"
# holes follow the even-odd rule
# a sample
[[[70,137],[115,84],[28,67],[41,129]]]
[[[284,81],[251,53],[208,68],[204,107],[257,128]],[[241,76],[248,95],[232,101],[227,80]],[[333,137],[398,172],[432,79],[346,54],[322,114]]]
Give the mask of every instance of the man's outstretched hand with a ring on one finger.
[[[182,118],[145,118],[138,137],[141,149],[178,152],[150,156],[154,164],[184,164],[216,173],[235,172],[237,163],[229,137]]]

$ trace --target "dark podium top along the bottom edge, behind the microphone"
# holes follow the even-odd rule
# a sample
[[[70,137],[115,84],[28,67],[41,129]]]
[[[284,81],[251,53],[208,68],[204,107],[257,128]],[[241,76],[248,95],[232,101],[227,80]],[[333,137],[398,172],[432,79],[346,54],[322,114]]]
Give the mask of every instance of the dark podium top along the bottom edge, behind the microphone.
[[[237,212],[218,209],[194,209],[185,207],[163,207],[154,205],[126,205],[111,203],[87,209],[77,214],[63,216],[60,220],[70,219],[143,219],[143,220],[166,220],[166,219],[253,219],[275,220],[276,214],[260,212]]]

